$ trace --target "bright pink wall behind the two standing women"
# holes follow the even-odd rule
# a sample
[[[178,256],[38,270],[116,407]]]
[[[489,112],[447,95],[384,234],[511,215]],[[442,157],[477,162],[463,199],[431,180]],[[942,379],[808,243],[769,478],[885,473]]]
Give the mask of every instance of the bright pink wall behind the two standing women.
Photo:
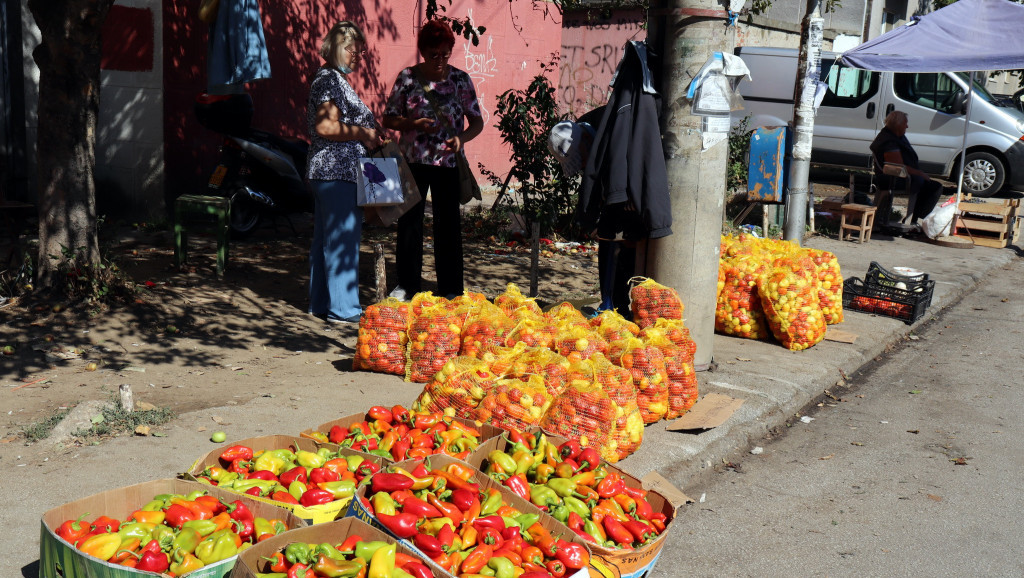
[[[444,4],[443,1],[438,2]],[[207,27],[195,0],[164,0],[164,83],[166,196],[171,199],[205,187],[216,161],[219,139],[193,114],[196,95],[205,88]],[[539,3],[456,0],[447,13],[470,14],[486,27],[479,46],[461,37],[452,65],[473,77],[486,128],[467,147],[472,166],[483,163],[504,174],[508,153],[493,117],[498,95],[524,88],[540,72],[540,63],[557,55],[561,22]],[[263,32],[273,78],[251,86],[256,106],[253,125],[288,136],[307,138],[305,107],[309,79],[319,66],[319,41],[339,19],[358,23],[368,36],[369,56],[356,72],[356,91],[375,112],[383,111],[391,83],[404,67],[417,61],[416,33],[424,2],[409,0],[289,0],[261,2]],[[552,82],[555,79],[552,78]]]

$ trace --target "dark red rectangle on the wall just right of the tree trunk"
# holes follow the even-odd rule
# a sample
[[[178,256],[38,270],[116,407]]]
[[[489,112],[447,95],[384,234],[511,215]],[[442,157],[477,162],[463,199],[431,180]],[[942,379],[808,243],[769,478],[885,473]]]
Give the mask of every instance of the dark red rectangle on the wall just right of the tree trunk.
[[[103,22],[102,56],[106,71],[153,70],[153,11],[114,5]]]

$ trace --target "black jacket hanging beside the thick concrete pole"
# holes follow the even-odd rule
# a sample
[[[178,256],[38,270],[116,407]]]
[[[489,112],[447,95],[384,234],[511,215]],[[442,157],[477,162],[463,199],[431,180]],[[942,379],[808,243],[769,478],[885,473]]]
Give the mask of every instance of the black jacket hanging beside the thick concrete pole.
[[[597,224],[604,205],[632,202],[650,239],[672,235],[669,178],[658,123],[659,96],[650,82],[646,45],[626,43],[611,96],[584,169],[578,219]]]

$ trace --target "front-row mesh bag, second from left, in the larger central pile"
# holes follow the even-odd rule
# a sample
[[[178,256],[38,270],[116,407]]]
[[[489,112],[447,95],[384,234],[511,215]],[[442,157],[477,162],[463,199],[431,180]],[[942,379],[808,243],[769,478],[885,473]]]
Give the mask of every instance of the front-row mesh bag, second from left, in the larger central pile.
[[[540,375],[530,375],[525,380],[499,379],[477,406],[473,418],[504,429],[526,429],[541,423],[553,398]]]

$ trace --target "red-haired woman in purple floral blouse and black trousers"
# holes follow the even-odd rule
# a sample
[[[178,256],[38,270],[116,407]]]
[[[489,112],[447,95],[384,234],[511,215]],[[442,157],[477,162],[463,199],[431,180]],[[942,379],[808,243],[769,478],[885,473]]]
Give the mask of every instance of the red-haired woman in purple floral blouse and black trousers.
[[[447,64],[455,47],[452,29],[428,22],[420,30],[417,47],[423,61],[398,73],[382,124],[401,133],[398,143],[416,184],[424,197],[430,191],[437,294],[461,295],[462,214],[455,156],[465,154],[463,146],[480,134],[483,119],[473,81]],[[398,219],[398,286],[391,296],[399,299],[422,289],[424,206],[421,201]]]

